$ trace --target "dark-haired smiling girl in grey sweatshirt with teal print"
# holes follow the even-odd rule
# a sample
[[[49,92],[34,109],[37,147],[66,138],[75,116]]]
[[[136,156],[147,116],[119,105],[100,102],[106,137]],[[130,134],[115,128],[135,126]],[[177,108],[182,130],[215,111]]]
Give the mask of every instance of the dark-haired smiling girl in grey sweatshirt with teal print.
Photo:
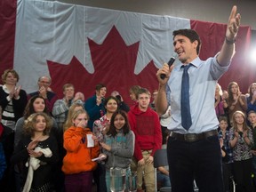
[[[129,174],[134,152],[134,133],[130,130],[124,111],[118,110],[111,117],[108,133],[104,142],[100,142],[103,153],[108,156],[106,162],[106,183],[110,191],[110,168],[126,169]]]

